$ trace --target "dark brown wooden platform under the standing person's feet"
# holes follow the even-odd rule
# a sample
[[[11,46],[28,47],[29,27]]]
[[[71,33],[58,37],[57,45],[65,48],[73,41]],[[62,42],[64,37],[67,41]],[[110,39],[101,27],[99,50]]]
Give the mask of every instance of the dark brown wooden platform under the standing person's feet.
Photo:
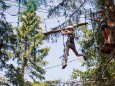
[[[100,52],[102,54],[111,54],[111,52],[115,49],[115,44],[111,44],[111,43],[104,43],[104,45],[102,46]]]

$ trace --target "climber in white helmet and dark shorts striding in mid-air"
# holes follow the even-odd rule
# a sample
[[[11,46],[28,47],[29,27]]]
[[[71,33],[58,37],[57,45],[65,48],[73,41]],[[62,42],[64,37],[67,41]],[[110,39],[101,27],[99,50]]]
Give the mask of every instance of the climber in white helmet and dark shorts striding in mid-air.
[[[75,43],[74,43],[74,28],[73,26],[67,26],[65,30],[61,30],[62,35],[67,35],[67,41],[66,41],[66,49],[65,49],[65,63],[62,64],[62,69],[64,69],[67,66],[67,60],[68,60],[68,55],[69,55],[69,49],[72,49],[72,51],[75,53],[76,56],[83,56],[84,60],[87,60],[86,55],[79,54],[75,48]]]

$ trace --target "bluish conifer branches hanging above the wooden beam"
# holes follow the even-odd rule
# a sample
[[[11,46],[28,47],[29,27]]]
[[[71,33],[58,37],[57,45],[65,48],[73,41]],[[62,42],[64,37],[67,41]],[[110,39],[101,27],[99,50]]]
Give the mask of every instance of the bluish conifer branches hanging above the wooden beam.
[[[68,20],[62,23],[61,26],[76,24],[79,22],[85,3],[87,3],[86,0],[61,0],[58,5],[49,9],[48,17],[61,16],[63,13]]]

